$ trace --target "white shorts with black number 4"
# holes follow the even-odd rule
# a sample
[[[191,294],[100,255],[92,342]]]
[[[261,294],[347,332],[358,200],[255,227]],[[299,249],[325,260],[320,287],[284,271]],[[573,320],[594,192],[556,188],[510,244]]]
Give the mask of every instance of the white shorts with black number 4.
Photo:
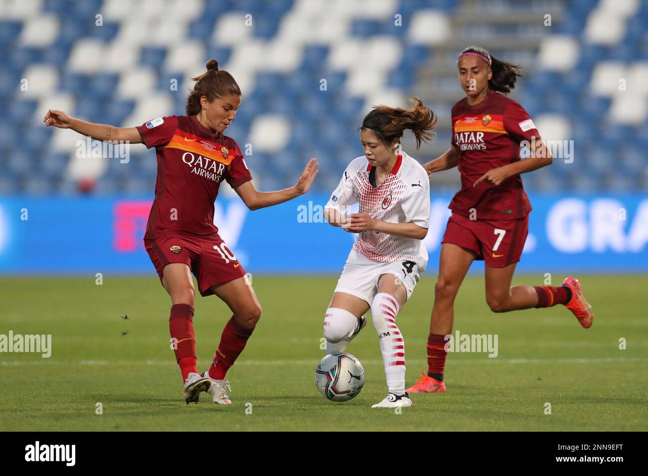
[[[413,262],[378,263],[365,258],[354,249],[349,253],[347,263],[344,265],[336,293],[347,293],[363,299],[371,306],[373,298],[378,294],[378,278],[384,274],[395,275],[400,284],[407,289],[407,299],[410,299],[414,286],[421,278],[419,266]]]

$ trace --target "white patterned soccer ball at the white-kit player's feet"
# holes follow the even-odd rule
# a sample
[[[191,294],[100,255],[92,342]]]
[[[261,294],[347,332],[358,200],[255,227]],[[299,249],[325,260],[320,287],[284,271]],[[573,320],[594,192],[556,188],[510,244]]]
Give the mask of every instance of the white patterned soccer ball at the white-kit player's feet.
[[[315,368],[315,385],[333,402],[346,402],[364,386],[364,368],[356,357],[344,352],[329,354]]]

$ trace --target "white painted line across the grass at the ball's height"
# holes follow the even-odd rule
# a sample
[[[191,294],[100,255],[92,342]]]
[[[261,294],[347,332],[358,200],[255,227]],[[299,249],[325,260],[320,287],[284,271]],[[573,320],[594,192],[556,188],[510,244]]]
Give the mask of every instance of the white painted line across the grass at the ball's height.
[[[476,353],[476,352],[475,352]],[[613,362],[645,362],[648,357],[595,357],[595,358],[561,358],[561,359],[501,359],[499,357],[488,357],[485,352],[480,358],[472,359],[452,359],[452,364],[470,364],[475,363],[503,363],[503,364],[551,364],[551,363],[613,363]],[[452,357],[451,357],[452,358]],[[235,365],[243,366],[270,366],[270,365],[316,365],[318,359],[295,359],[295,360],[242,360],[238,361]],[[362,361],[365,365],[382,365],[382,360],[365,359]],[[427,363],[424,359],[408,359],[407,363],[410,364],[424,364]],[[21,366],[47,366],[47,365],[152,365],[152,366],[175,366],[172,361],[155,361],[155,360],[81,360],[81,361],[56,361],[49,359],[21,361],[21,360],[5,360],[0,361],[0,367],[21,367]]]

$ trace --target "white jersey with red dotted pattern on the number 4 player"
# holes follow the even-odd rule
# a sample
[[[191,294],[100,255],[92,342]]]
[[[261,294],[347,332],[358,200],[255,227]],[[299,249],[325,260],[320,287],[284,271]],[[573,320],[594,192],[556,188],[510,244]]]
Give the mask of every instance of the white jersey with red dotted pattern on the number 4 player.
[[[360,213],[369,214],[374,220],[430,227],[430,179],[415,159],[399,152],[391,173],[380,186],[372,183],[375,184],[375,167],[364,155],[356,157],[344,171],[325,208],[345,213],[349,205],[360,202]],[[359,233],[353,250],[380,263],[413,261],[421,273],[428,262],[422,240],[378,231]]]

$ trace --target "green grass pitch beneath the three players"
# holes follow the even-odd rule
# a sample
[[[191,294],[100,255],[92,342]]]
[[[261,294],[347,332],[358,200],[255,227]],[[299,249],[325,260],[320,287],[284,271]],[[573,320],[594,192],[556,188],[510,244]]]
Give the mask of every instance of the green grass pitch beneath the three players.
[[[579,278],[596,312],[588,330],[564,306],[494,314],[483,277],[467,278],[455,329],[498,334],[499,355],[449,354],[448,393],[413,395],[414,407],[401,414],[371,409],[386,385],[370,323],[347,349],[364,364],[363,391],[333,403],[314,385],[336,277],[254,277],[263,314],[227,376],[230,407],[214,405],[207,394],[198,405],[181,398],[168,335],[170,299],[157,278],[104,275],[101,286],[94,277],[0,278],[0,334],[52,334],[49,358],[0,354],[0,429],[645,431],[648,277]],[[514,284],[542,280],[520,276]],[[408,384],[426,367],[433,288],[434,278],[423,278],[399,315]],[[197,297],[199,370],[209,365],[229,316],[216,297]],[[619,349],[621,337],[626,350]],[[544,413],[546,402],[551,414]]]

